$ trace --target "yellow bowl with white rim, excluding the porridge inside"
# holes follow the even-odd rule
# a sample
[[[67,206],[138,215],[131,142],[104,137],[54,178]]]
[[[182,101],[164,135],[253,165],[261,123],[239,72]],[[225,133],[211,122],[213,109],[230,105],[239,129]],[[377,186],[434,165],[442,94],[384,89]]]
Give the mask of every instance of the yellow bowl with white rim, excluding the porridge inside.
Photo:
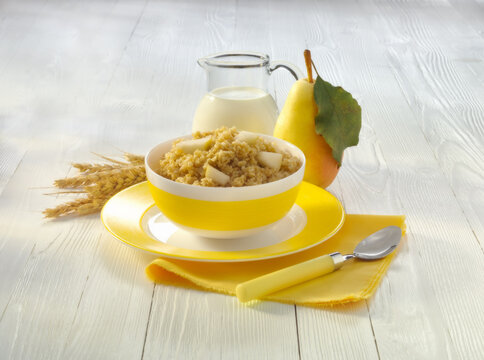
[[[174,140],[152,148],[146,155],[146,175],[151,195],[163,215],[184,230],[213,238],[252,235],[282,219],[294,205],[306,159],[296,146],[272,136],[260,136],[301,159],[301,167],[283,179],[261,185],[228,188],[188,185],[156,172]]]

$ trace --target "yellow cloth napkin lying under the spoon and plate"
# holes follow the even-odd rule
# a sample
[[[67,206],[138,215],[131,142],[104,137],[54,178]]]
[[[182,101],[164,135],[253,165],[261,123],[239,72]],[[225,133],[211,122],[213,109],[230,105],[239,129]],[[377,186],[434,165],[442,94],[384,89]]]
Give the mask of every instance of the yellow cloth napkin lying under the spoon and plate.
[[[331,239],[308,250],[279,258],[230,263],[210,263],[159,258],[146,268],[148,277],[161,284],[235,295],[237,284],[302,261],[338,251],[352,254],[366,236],[386,226],[405,231],[405,216],[347,215]],[[369,298],[378,287],[395,252],[375,261],[354,260],[341,269],[270,294],[265,300],[308,306],[330,306]]]

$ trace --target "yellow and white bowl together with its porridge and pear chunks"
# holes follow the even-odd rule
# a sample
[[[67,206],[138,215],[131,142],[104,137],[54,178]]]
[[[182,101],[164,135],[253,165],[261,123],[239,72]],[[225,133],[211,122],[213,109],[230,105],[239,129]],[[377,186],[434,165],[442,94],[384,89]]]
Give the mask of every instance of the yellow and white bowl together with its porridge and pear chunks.
[[[306,159],[263,134],[220,128],[169,140],[145,158],[151,195],[179,228],[238,238],[282,219],[296,200]]]

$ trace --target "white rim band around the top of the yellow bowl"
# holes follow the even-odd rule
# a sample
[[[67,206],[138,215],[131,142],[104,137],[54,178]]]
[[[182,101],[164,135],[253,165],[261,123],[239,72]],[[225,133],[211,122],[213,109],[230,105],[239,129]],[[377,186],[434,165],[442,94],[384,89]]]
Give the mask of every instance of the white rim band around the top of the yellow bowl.
[[[291,152],[291,154],[297,156],[302,160],[300,168],[293,174],[286,176],[285,178],[272,181],[265,184],[248,185],[248,186],[233,186],[233,187],[215,187],[215,186],[199,186],[192,184],[179,183],[170,179],[167,179],[159,175],[151,166],[150,160],[154,153],[159,151],[160,147],[172,144],[178,139],[189,139],[192,135],[179,136],[174,139],[170,139],[159,143],[152,147],[145,156],[146,174],[148,180],[157,188],[163,187],[162,190],[168,191],[175,195],[184,196],[188,198],[196,198],[200,200],[212,200],[212,201],[232,201],[232,200],[252,200],[264,197],[269,197],[282,193],[290,188],[299,184],[303,177],[306,166],[306,157],[301,149],[297,146],[289,143],[286,140],[276,138],[274,136],[258,134],[261,137],[267,138],[276,143],[282,144],[283,147]],[[160,156],[160,155],[158,155]],[[159,159],[160,157],[158,157]],[[151,160],[152,161],[152,160]],[[250,191],[248,191],[250,189]],[[227,198],[230,195],[230,198]]]

